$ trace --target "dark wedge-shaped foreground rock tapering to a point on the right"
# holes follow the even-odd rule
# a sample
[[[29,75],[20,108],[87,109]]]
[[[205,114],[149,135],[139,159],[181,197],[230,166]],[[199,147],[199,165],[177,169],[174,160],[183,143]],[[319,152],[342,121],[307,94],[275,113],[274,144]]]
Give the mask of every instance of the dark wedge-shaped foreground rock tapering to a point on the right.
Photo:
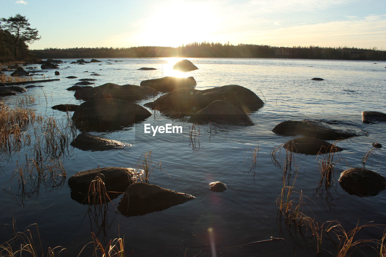
[[[147,183],[133,183],[122,196],[118,210],[125,216],[138,216],[162,211],[171,206],[195,199],[191,194],[180,193]]]

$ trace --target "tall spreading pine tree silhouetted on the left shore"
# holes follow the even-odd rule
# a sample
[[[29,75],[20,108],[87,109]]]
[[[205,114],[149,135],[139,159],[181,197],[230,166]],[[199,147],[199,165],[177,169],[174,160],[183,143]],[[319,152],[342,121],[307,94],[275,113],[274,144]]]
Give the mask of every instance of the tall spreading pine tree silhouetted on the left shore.
[[[39,40],[39,31],[29,27],[31,24],[25,16],[16,14],[10,16],[8,19],[0,19],[2,24],[0,29],[5,34],[12,35],[12,39],[8,37],[8,40],[12,41],[14,58],[17,59],[19,51],[23,51],[27,43],[32,43]],[[28,48],[28,47],[27,47]]]

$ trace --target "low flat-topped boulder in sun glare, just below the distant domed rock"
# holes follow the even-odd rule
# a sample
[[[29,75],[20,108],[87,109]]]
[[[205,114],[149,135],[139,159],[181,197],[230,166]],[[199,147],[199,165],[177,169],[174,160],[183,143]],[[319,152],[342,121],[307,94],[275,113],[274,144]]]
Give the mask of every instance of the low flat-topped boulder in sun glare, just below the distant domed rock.
[[[193,77],[164,77],[158,79],[147,79],[142,81],[140,85],[149,86],[161,92],[170,92],[179,88],[194,88],[197,83]]]

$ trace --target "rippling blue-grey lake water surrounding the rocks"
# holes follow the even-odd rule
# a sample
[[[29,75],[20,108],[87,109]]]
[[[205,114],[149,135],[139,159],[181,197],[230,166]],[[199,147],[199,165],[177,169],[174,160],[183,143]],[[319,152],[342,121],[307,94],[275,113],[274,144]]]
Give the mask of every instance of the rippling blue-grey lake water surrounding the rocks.
[[[41,83],[43,88],[31,88],[22,96],[35,96],[36,102],[29,104],[30,107],[61,119],[64,114],[52,110],[51,106],[80,103],[74,99],[73,91],[66,90],[78,80],[67,79],[66,76],[95,78],[98,79],[97,86],[108,82],[139,85],[142,80],[162,76],[193,76],[198,90],[240,85],[254,91],[265,105],[251,113],[250,117],[256,125],[203,126],[193,142],[189,134],[191,123],[186,118],[156,112],[145,122],[132,127],[92,133],[131,145],[122,150],[92,152],[70,147],[69,155],[63,159],[68,178],[78,171],[98,166],[133,167],[144,152],[152,150],[153,161],[161,159],[162,170],[156,167],[150,182],[196,196],[195,200],[182,205],[130,218],[115,213],[110,205],[112,211],[108,212],[105,231],[97,228],[100,219],[98,223],[90,218],[88,206],[71,199],[67,182],[63,187],[53,190],[42,186],[39,194],[26,198],[15,195],[20,193],[15,186],[9,191],[9,180],[16,161],[20,159],[23,162],[25,159],[23,150],[19,155],[14,154],[11,159],[2,162],[0,173],[0,186],[5,188],[0,193],[0,242],[12,237],[12,226],[9,224],[14,216],[18,231],[32,223],[39,225],[44,249],[62,245],[71,254],[78,253],[90,242],[93,231],[99,232],[98,237],[102,241],[124,236],[126,252],[133,250],[132,256],[184,256],[185,251],[186,256],[212,256],[211,244],[222,249],[217,251],[217,256],[315,255],[315,244],[309,242],[310,239],[304,240],[300,235],[295,235],[279,221],[276,199],[283,188],[283,171],[271,155],[274,147],[293,138],[276,135],[271,132],[272,128],[284,120],[304,118],[338,120],[338,127],[364,134],[338,142],[345,150],[341,152],[342,161],[335,167],[335,183],[327,191],[317,189],[320,157],[295,156],[293,167],[298,168],[299,174],[296,180],[293,175],[287,185],[294,185],[305,196],[304,213],[315,217],[319,223],[339,220],[346,230],[354,228],[358,220],[360,225],[368,221],[385,223],[386,209],[383,203],[386,191],[377,196],[361,198],[346,193],[337,179],[342,170],[361,166],[361,159],[371,149],[372,142],[386,144],[384,123],[366,125],[361,122],[361,112],[364,110],[386,112],[386,62],[192,58],[190,60],[199,69],[181,73],[171,69],[177,58],[117,59],[122,62],[100,60],[103,62],[86,65],[69,64],[74,60],[64,60],[67,63],[60,66],[59,76],[54,76],[54,71],[48,71],[45,75],[46,78],[60,78],[60,81]],[[66,66],[70,68],[64,68]],[[157,70],[138,71],[141,67]],[[92,76],[91,72],[102,76]],[[325,80],[311,80],[314,77]],[[15,97],[18,96],[2,98],[2,101],[12,102]],[[138,103],[142,105],[148,101],[152,99]],[[183,134],[144,136],[144,123],[181,125]],[[253,167],[251,150],[255,148],[259,148],[259,153],[256,167]],[[276,157],[283,166],[284,150]],[[376,149],[376,154],[371,156],[366,167],[386,176],[385,161],[384,150]],[[208,189],[208,184],[213,181],[222,181],[229,189],[223,193],[213,193]],[[294,198],[298,198],[298,194],[294,194]],[[115,206],[119,199],[113,200]],[[212,232],[209,232],[209,228]],[[238,246],[267,240],[271,236],[285,240]],[[369,229],[363,237],[379,239],[380,233],[376,229]],[[223,249],[225,247],[232,248]],[[335,252],[328,242],[324,247]],[[322,255],[329,254],[323,251]]]

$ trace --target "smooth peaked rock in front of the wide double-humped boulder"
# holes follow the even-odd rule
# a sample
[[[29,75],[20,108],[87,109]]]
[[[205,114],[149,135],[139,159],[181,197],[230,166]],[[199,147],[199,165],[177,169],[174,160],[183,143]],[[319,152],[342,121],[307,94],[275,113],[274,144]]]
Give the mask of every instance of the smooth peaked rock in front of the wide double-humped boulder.
[[[251,118],[242,112],[239,108],[222,100],[214,101],[207,107],[193,114],[189,122],[192,123],[232,123],[235,125],[252,126]]]

